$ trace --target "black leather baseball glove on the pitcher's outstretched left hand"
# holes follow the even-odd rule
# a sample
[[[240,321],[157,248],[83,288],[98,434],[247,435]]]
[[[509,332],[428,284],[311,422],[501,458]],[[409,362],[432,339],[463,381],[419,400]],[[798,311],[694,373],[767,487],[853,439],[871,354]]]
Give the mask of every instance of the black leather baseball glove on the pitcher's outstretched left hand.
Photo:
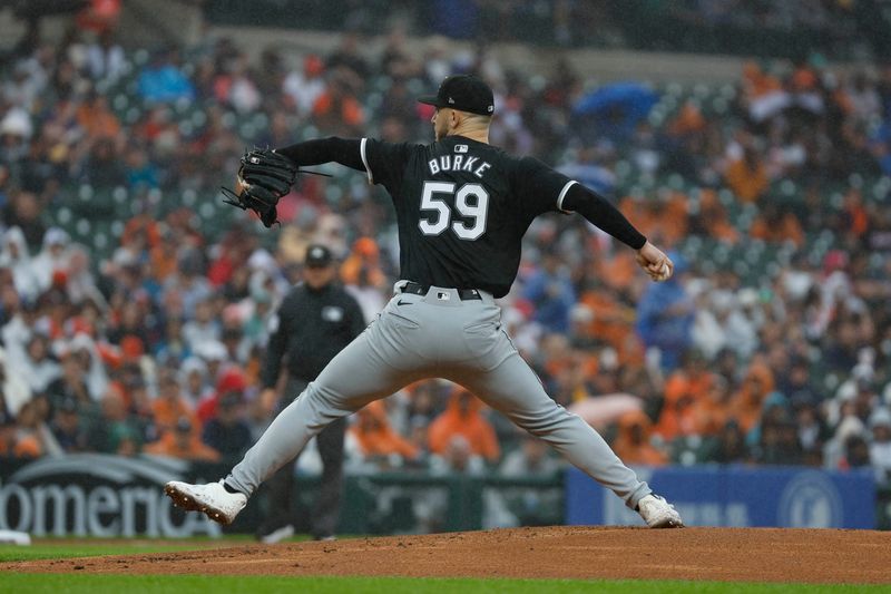
[[[254,148],[242,155],[235,191],[223,187],[226,204],[254,211],[268,228],[278,221],[278,199],[291,192],[297,177],[293,160],[272,148]]]

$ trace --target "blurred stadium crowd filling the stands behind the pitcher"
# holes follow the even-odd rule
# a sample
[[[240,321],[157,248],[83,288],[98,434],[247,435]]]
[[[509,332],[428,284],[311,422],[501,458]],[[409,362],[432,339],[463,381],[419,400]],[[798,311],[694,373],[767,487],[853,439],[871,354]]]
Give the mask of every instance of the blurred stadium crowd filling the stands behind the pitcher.
[[[0,456],[241,456],[271,420],[257,376],[305,247],[332,247],[371,321],[396,279],[395,230],[385,196],[345,169],[301,178],[272,232],[203,201],[251,143],[425,142],[415,95],[473,71],[497,91],[493,144],[604,191],[673,249],[674,279],[654,284],[581,217],[532,225],[503,322],[557,401],[633,465],[889,479],[891,68],[750,64],[735,86],[660,88],[634,117],[624,103],[580,113],[596,89],[566,62],[530,76],[435,39],[412,55],[399,31],[381,53],[362,47],[344,35],[330,55],[252,62],[227,40],[125,51],[112,30],[72,29],[4,57]],[[100,195],[129,213],[109,245],[62,216]],[[349,464],[556,468],[490,412],[459,387],[410,386],[353,417]]]

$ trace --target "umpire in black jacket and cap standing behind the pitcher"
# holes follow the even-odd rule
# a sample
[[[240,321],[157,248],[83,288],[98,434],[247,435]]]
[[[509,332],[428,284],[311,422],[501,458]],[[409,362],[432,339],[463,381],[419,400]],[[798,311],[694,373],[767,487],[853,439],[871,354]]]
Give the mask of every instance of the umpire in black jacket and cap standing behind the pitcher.
[[[335,284],[336,266],[331,250],[311,245],[306,250],[303,283],[285,296],[273,322],[272,337],[263,366],[264,402],[276,400],[275,386],[282,366],[287,370],[285,408],[319,376],[344,347],[362,333],[365,322],[359,303]],[[333,539],[337,527],[343,470],[345,417],[329,425],[316,438],[322,458],[322,480],[310,529],[313,538]],[[293,464],[283,466],[270,480],[268,514],[258,538],[277,543],[294,534],[292,498]]]

